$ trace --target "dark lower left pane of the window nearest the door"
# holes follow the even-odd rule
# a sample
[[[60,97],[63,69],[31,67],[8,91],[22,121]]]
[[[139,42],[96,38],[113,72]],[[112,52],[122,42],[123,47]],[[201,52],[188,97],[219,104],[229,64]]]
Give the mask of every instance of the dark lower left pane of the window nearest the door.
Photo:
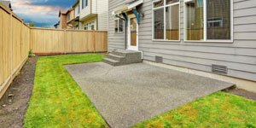
[[[164,39],[164,8],[154,10],[154,39]]]

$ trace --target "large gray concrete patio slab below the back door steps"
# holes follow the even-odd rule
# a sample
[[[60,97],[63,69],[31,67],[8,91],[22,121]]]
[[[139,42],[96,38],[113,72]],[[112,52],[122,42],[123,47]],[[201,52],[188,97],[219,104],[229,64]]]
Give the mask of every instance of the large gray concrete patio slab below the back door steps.
[[[143,63],[112,67],[96,62],[66,67],[113,128],[130,127],[233,85]]]

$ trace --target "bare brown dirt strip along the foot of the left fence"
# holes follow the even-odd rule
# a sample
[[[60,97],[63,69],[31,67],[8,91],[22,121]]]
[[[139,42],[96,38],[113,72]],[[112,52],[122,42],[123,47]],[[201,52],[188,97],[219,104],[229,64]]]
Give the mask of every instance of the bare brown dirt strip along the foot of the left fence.
[[[22,127],[23,118],[32,94],[38,57],[29,58],[20,74],[0,100],[0,127]]]

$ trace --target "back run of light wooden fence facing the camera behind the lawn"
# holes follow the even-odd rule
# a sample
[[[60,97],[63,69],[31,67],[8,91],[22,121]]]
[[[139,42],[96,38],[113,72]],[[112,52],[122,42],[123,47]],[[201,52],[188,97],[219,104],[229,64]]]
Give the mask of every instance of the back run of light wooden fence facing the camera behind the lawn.
[[[44,28],[31,29],[31,49],[36,55],[106,52],[108,32]]]

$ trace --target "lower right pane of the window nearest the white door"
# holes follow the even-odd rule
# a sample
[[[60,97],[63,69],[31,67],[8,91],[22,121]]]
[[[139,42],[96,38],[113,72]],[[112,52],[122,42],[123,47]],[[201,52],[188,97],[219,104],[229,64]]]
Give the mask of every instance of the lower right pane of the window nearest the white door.
[[[179,5],[166,7],[166,39],[179,39]]]

